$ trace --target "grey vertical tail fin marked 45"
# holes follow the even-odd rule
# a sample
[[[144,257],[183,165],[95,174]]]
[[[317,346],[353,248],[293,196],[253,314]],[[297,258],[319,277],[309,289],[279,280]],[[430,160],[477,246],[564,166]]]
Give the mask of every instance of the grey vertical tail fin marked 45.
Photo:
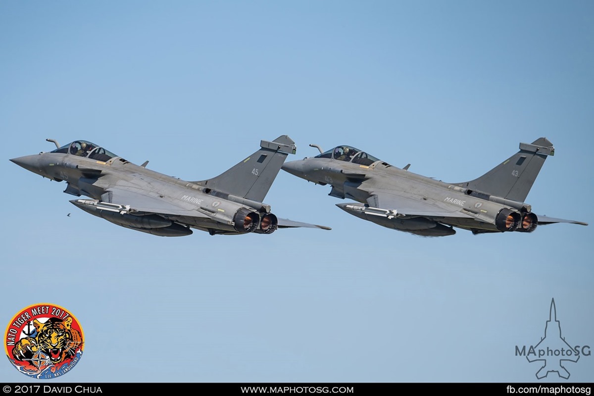
[[[195,182],[227,194],[262,202],[288,154],[295,154],[295,142],[282,135],[260,141],[260,150],[216,178]]]

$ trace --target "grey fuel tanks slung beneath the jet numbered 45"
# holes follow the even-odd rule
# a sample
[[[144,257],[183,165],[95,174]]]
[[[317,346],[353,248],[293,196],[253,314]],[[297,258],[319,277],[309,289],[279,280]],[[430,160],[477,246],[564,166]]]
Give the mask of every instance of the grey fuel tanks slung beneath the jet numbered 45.
[[[129,214],[125,213],[125,208],[121,207],[121,205],[98,202],[94,199],[74,199],[70,202],[93,216],[129,229],[158,236],[187,236],[192,234],[192,230],[188,227],[173,223],[173,221],[156,214],[146,216]]]

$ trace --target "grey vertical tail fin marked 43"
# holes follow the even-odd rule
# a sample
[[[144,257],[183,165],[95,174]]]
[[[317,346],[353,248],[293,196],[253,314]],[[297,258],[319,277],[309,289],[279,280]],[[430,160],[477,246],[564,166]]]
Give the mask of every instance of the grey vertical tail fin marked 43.
[[[520,143],[520,151],[478,179],[457,183],[465,188],[524,202],[547,156],[555,148],[546,138]]]

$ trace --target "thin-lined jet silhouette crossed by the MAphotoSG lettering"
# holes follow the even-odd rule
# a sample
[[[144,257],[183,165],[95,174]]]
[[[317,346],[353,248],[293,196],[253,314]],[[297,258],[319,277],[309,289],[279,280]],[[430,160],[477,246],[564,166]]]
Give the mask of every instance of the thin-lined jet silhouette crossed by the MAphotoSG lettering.
[[[542,362],[542,367],[536,372],[536,378],[542,379],[550,372],[557,372],[561,378],[568,379],[570,373],[567,371],[564,362],[576,363],[579,359],[579,353],[565,341],[561,335],[561,324],[557,320],[557,308],[555,307],[555,299],[551,300],[551,310],[549,311],[549,320],[545,324],[545,336],[541,341],[534,346],[534,350],[538,351],[539,359],[530,360],[530,353],[526,355],[528,362]],[[546,356],[546,359],[540,357]]]

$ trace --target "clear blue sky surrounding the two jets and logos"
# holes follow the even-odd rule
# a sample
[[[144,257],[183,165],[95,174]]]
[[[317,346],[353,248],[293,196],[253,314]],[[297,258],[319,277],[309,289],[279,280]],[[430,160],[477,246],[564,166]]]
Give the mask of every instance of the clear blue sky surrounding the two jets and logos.
[[[536,381],[514,347],[552,298],[594,349],[593,71],[591,1],[1,2],[0,325],[78,318],[55,382]],[[448,182],[546,137],[527,202],[590,226],[413,236],[281,171],[273,213],[331,231],[165,238],[8,161],[84,139],[200,180],[283,134],[289,160],[349,144]],[[541,382],[594,381],[594,356],[566,367]],[[0,381],[28,380],[5,361]]]

